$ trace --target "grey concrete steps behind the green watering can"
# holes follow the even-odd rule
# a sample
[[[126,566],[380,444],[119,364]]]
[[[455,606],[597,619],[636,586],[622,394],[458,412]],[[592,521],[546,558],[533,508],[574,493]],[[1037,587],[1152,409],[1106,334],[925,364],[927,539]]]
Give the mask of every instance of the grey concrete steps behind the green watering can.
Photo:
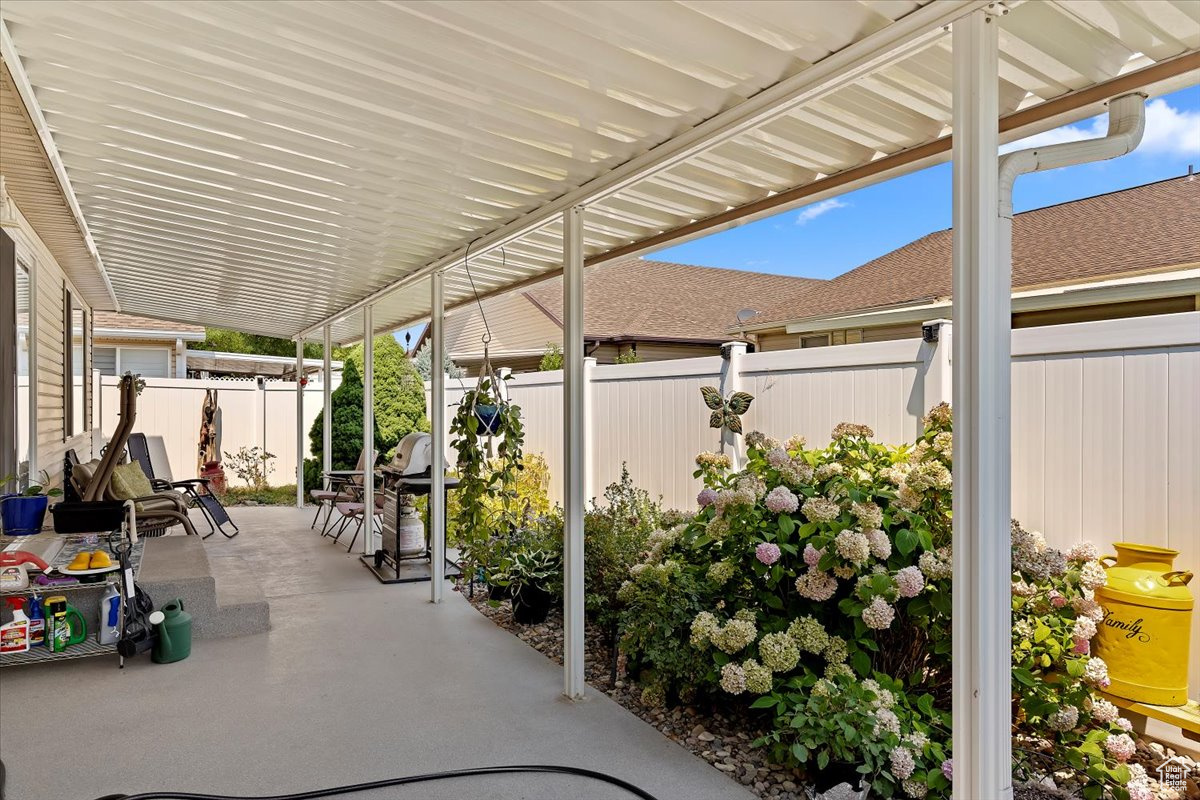
[[[199,536],[146,540],[140,585],[156,608],[184,601],[199,639],[248,636],[270,628],[270,606],[251,566],[236,555],[209,558]]]

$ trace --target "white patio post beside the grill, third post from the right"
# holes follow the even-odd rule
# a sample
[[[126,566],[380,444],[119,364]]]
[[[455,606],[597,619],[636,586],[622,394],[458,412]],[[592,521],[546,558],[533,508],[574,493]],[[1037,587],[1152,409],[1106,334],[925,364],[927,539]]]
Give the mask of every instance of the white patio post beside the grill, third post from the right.
[[[446,373],[445,363],[445,277],[430,276],[430,602],[440,603],[446,567]]]

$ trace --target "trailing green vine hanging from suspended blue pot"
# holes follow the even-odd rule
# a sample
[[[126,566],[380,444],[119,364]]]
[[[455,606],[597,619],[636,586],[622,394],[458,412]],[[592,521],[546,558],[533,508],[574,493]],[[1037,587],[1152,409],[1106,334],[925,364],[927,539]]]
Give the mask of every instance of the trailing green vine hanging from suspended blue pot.
[[[494,374],[481,378],[450,421],[450,445],[458,453],[456,522],[464,566],[469,573],[482,570],[485,578],[498,569],[504,542],[522,517],[517,479],[524,425],[521,407],[500,396],[499,380]],[[490,498],[500,500],[498,511],[494,501],[486,503]]]

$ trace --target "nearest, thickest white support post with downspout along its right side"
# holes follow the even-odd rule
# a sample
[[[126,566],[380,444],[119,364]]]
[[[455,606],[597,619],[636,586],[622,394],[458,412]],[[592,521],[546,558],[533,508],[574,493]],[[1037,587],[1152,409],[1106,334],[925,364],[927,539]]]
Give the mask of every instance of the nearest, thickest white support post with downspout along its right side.
[[[1012,270],[998,241],[998,29],[954,23],[954,796],[1013,796]]]

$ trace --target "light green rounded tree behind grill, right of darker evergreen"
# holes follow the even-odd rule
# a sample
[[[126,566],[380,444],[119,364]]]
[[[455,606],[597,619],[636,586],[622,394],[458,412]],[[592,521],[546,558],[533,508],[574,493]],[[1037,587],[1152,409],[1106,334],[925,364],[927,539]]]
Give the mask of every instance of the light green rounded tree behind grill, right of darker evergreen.
[[[346,348],[342,361],[347,366],[353,363],[361,374],[362,344]],[[378,336],[374,341],[373,390],[376,434],[383,443],[382,453],[391,451],[406,434],[430,429],[425,415],[425,383],[408,360],[404,348],[391,335]],[[362,402],[361,395],[359,402]]]

